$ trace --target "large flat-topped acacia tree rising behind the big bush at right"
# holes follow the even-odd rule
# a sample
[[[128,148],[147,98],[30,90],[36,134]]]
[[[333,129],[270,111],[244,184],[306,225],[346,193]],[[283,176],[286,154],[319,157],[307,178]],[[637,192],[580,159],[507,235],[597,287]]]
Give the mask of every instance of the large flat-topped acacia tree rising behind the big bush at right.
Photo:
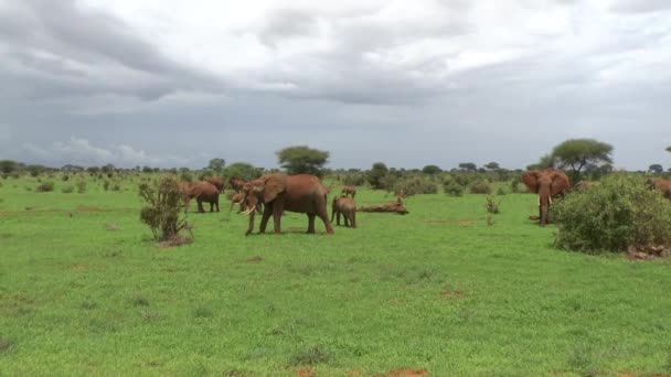
[[[552,157],[561,169],[571,168],[573,182],[577,182],[581,170],[592,163],[613,163],[613,146],[594,139],[568,139],[552,150]]]

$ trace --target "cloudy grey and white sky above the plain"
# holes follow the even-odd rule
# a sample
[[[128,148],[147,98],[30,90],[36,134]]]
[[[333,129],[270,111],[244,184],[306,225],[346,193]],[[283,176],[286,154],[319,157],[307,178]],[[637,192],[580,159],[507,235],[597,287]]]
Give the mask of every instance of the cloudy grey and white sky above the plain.
[[[669,0],[0,0],[0,159],[671,168]]]

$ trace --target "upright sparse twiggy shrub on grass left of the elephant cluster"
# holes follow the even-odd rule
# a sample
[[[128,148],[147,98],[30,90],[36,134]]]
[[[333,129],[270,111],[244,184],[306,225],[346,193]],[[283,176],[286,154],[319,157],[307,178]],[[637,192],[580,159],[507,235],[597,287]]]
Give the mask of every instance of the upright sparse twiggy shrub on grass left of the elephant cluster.
[[[159,241],[175,239],[190,226],[183,215],[185,198],[179,181],[167,176],[158,183],[142,183],[139,195],[147,203],[140,211],[140,220],[147,224]]]

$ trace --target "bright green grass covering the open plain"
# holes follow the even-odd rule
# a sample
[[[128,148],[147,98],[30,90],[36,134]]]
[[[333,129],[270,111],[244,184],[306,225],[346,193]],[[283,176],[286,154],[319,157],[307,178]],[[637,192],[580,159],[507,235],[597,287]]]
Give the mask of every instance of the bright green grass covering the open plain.
[[[484,195],[415,196],[332,237],[298,214],[245,237],[222,202],[190,213],[193,244],[159,248],[137,181],[54,182],[0,187],[0,376],[671,373],[669,262],[556,250],[533,195],[492,225]]]

